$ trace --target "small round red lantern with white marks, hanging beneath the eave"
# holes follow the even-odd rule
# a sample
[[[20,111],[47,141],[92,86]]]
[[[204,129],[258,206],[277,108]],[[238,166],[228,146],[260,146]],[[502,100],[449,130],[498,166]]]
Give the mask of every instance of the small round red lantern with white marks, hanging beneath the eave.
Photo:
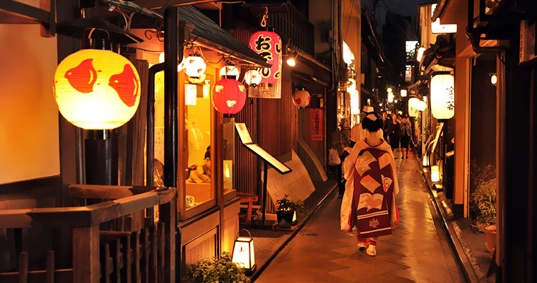
[[[221,79],[213,86],[213,107],[220,113],[232,115],[244,107],[246,88],[234,79]]]

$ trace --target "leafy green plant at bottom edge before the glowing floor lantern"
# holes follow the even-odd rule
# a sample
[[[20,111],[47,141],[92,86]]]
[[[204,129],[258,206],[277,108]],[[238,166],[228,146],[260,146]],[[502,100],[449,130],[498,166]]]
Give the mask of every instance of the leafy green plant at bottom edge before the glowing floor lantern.
[[[231,261],[229,253],[222,253],[220,258],[203,258],[195,265],[189,265],[187,272],[182,277],[182,282],[187,283],[249,283],[250,280],[244,275],[244,270]]]

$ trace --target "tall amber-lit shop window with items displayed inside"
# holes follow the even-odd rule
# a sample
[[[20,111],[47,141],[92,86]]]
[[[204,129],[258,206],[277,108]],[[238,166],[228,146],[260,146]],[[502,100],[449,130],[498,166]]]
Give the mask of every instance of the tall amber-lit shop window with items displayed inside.
[[[218,158],[212,156],[211,149],[212,105],[210,89],[213,76],[190,79],[179,84],[184,90],[185,127],[187,129],[187,170],[185,196],[187,210],[215,199],[215,180],[213,180],[213,163]]]

